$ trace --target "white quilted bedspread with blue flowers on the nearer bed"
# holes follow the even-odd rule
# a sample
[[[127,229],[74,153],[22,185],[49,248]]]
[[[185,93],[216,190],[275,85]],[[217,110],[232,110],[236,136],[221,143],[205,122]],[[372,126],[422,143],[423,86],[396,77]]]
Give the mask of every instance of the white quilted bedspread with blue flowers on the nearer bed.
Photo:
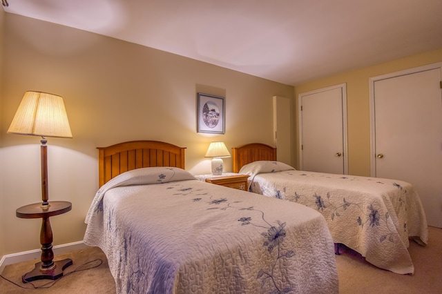
[[[84,242],[117,293],[338,293],[324,217],[296,203],[142,168],[95,195]]]

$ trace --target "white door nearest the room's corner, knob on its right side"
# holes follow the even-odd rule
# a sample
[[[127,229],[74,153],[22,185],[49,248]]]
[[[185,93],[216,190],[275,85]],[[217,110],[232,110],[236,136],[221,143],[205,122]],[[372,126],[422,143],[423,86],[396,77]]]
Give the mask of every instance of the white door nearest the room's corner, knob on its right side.
[[[298,98],[300,169],[347,174],[347,95],[340,84]]]

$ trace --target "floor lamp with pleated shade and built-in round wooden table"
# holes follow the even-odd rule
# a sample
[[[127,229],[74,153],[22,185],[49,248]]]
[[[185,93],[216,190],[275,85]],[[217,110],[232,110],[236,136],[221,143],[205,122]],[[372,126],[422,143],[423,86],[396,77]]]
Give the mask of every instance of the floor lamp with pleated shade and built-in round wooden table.
[[[48,195],[48,150],[46,137],[72,138],[68,115],[63,98],[45,92],[27,91],[8,129],[8,133],[41,137],[41,203],[17,208],[17,217],[32,219],[41,218],[41,262],[35,269],[23,275],[23,282],[50,279],[57,280],[63,270],[73,264],[72,259],[54,262],[52,251],[52,228],[49,217],[67,213],[72,209],[70,202],[49,202]]]

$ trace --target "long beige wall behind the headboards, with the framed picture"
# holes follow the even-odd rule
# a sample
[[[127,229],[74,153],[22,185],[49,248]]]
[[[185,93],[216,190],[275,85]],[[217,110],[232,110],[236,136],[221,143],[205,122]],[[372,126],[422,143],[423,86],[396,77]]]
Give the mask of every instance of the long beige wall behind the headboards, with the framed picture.
[[[273,144],[272,97],[294,88],[89,32],[4,16],[0,256],[37,249],[40,219],[15,209],[41,199],[39,137],[6,134],[26,90],[64,97],[73,139],[48,138],[49,197],[73,203],[51,218],[54,244],[83,239],[98,188],[97,146],[154,139],[186,149],[186,169],[210,173],[210,141]],[[225,135],[196,133],[196,92],[226,97]],[[288,123],[288,122],[287,122]],[[231,159],[225,159],[231,171]],[[6,225],[7,224],[7,225]]]

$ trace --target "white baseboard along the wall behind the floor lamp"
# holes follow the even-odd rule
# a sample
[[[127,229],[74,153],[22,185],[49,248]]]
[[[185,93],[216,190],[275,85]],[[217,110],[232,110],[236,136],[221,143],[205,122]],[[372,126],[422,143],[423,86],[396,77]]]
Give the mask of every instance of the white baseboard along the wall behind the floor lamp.
[[[76,251],[84,248],[89,248],[89,246],[84,244],[83,241],[79,241],[79,242],[54,246],[52,247],[52,251],[54,251],[55,257],[57,257],[58,254],[67,253],[70,251]],[[0,259],[0,274],[3,273],[3,269],[5,269],[5,267],[8,264],[16,264],[17,262],[26,262],[27,260],[31,259],[39,260],[40,257],[41,257],[41,249],[4,255]]]

